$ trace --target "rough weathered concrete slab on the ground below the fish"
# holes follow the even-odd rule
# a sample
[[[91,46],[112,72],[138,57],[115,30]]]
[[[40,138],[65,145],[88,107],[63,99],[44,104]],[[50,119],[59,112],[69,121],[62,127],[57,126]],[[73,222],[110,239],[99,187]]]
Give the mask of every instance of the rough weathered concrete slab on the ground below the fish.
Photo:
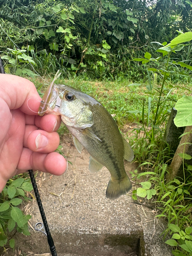
[[[61,177],[46,174],[37,178],[41,200],[58,255],[90,256],[170,256],[170,247],[162,242],[152,209],[133,203],[130,196],[117,200],[105,198],[110,173],[103,168],[90,174],[89,154],[78,154],[71,146],[66,151],[73,163]],[[125,163],[126,171],[135,166]],[[36,202],[31,224],[41,222]],[[154,230],[155,227],[155,230]],[[21,250],[48,253],[44,234],[30,230],[31,236],[16,234]]]

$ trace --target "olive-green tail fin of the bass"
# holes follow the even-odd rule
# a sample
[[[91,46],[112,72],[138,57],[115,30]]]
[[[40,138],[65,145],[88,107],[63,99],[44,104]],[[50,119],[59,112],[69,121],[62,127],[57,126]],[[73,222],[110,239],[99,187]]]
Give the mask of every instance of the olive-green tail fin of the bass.
[[[106,198],[117,199],[121,195],[125,195],[131,188],[131,181],[127,175],[121,180],[112,181],[110,179],[106,188]]]

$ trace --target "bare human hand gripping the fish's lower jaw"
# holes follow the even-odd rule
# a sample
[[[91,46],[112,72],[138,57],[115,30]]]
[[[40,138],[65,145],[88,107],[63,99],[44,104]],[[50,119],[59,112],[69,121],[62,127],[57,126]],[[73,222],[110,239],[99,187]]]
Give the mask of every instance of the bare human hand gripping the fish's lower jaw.
[[[0,193],[8,179],[28,169],[61,175],[67,168],[66,159],[53,152],[60,117],[38,116],[40,100],[29,80],[0,74]]]

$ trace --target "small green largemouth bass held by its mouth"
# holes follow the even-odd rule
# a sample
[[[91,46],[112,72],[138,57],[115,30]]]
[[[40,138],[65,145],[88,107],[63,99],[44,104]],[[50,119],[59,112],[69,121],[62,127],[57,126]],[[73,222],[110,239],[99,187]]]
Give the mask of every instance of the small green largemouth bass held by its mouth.
[[[132,188],[123,158],[132,161],[134,153],[104,106],[81,91],[52,82],[42,98],[38,114],[42,116],[45,112],[61,115],[79,153],[82,146],[86,148],[91,155],[91,173],[98,172],[102,166],[108,168],[111,179],[106,198],[116,199]]]

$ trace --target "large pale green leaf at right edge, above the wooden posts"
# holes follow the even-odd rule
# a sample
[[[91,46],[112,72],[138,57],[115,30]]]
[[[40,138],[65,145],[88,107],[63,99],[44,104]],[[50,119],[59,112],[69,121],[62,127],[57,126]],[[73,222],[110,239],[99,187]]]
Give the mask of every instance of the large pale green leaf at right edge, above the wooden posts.
[[[177,115],[174,123],[177,127],[192,125],[192,97],[184,96],[175,105]]]

